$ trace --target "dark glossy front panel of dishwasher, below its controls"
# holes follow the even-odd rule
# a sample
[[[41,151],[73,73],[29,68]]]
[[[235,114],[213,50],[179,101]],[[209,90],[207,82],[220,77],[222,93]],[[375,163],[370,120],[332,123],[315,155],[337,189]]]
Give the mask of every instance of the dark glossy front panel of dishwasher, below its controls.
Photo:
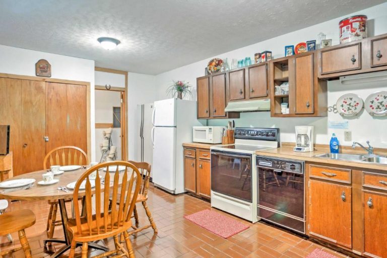
[[[259,205],[304,218],[304,175],[258,167]]]

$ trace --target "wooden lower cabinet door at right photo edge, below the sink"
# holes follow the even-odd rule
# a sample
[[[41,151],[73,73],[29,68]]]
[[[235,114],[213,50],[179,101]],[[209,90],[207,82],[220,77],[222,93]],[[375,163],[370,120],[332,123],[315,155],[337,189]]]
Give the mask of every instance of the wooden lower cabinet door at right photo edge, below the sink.
[[[370,257],[387,257],[387,196],[363,192],[364,204],[364,254]]]

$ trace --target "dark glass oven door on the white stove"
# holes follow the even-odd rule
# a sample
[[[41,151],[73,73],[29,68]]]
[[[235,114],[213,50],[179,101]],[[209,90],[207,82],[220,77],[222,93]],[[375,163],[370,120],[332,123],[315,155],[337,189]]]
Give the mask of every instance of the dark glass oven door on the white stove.
[[[211,190],[251,203],[251,154],[211,151]]]

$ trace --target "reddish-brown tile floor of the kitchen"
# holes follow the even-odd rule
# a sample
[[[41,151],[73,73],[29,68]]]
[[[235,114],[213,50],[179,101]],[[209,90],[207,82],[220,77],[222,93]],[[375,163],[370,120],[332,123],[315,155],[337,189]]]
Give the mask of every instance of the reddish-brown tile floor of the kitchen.
[[[211,209],[210,203],[191,197],[189,195],[172,196],[160,189],[150,187],[148,206],[158,227],[158,234],[153,234],[152,228],[132,235],[131,240],[137,258],[142,257],[305,257],[315,248],[323,249],[337,257],[346,255],[332,251],[326,247],[317,245],[305,238],[288,233],[281,229],[264,223],[251,224],[238,219],[242,223],[249,224],[250,228],[228,239],[219,237],[192,222],[183,218],[204,209]],[[61,245],[53,245],[50,250],[44,250],[43,239],[46,237],[46,216],[48,205],[43,201],[13,202],[10,210],[31,209],[36,214],[36,224],[26,230],[33,257],[49,256],[50,251],[60,248]],[[69,210],[70,211],[70,207]],[[148,222],[148,218],[138,204],[140,225]],[[220,212],[220,211],[218,211]],[[223,213],[224,214],[224,213]],[[226,214],[232,217],[231,215]],[[62,236],[60,227],[55,230],[55,237]],[[15,245],[19,245],[17,234],[13,234]],[[13,244],[2,237],[0,249],[7,249]],[[113,247],[111,239],[105,241],[107,246]],[[90,255],[96,255],[98,251],[90,251]],[[80,248],[77,249],[80,256]],[[67,257],[68,254],[63,255]],[[24,257],[22,252],[14,253],[14,257]]]

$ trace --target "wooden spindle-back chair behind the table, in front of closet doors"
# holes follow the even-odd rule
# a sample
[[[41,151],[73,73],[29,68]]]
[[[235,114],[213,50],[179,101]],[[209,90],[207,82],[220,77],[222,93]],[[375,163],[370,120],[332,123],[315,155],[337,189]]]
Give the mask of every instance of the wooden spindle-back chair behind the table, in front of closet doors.
[[[88,163],[87,155],[82,149],[75,146],[61,146],[47,153],[43,161],[43,169],[48,169],[54,165],[87,165]],[[71,202],[71,200],[68,199],[66,202]],[[60,226],[62,222],[56,220],[58,200],[50,200],[48,204],[50,205],[50,210],[48,212],[46,232],[47,237],[52,238],[55,227]],[[48,242],[48,245],[51,245],[51,242]]]

